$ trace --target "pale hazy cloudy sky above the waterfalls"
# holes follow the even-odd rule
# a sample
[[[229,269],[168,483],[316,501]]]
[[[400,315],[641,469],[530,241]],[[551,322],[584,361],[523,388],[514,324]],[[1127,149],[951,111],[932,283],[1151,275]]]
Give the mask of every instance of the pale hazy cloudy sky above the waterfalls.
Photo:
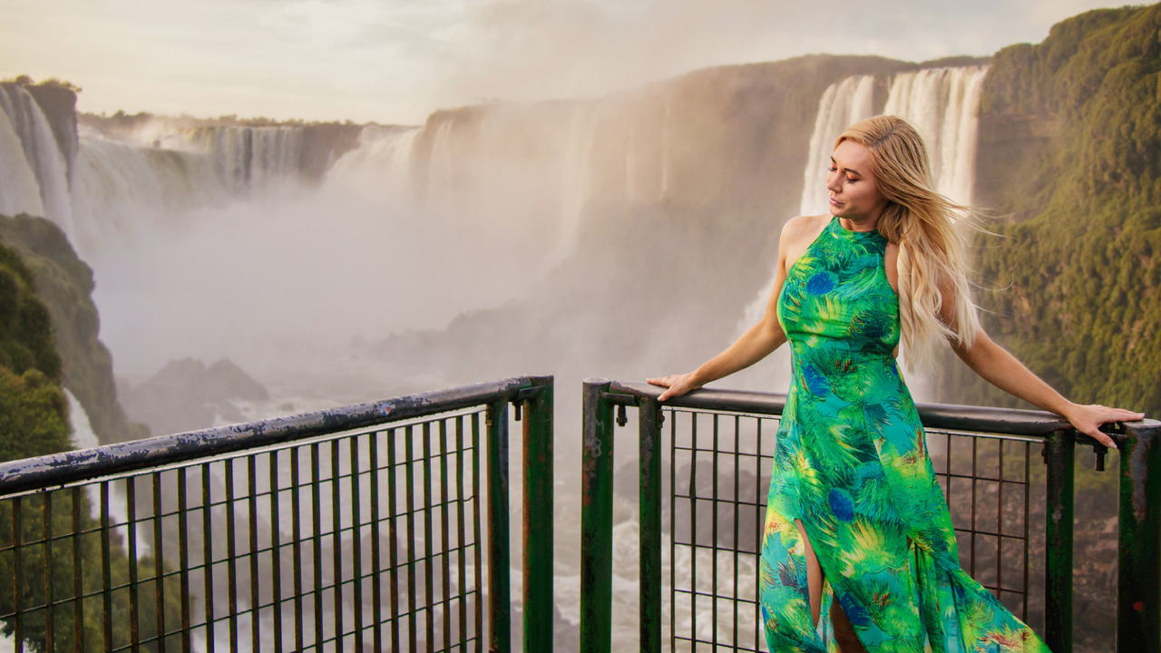
[[[925,60],[1038,43],[1102,0],[0,0],[0,79],[85,112],[420,123],[814,53]]]

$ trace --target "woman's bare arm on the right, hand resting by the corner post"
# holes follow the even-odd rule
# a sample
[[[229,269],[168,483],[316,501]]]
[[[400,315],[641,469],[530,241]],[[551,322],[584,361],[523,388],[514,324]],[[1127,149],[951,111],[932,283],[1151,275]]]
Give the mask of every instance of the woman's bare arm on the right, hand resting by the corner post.
[[[954,299],[945,292],[943,308],[940,309],[940,318],[945,323],[951,323],[949,314],[951,313],[950,307],[952,301]],[[1101,424],[1108,422],[1133,422],[1145,417],[1142,412],[1108,408],[1098,404],[1082,406],[1068,401],[1054,390],[1052,386],[1045,383],[1039,376],[1033,374],[1016,357],[997,345],[983,332],[983,329],[979,330],[972,346],[967,347],[962,344],[953,344],[952,350],[956,351],[956,356],[987,382],[1032,406],[1063,416],[1077,431],[1088,433],[1097,442],[1111,449],[1117,449],[1117,444],[1112,438],[1101,432]]]

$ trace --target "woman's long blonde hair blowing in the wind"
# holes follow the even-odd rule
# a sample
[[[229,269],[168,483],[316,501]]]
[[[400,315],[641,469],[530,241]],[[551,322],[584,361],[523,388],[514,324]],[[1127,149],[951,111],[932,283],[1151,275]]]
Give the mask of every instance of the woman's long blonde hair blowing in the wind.
[[[980,329],[967,281],[967,241],[959,222],[972,218],[967,207],[935,192],[923,138],[897,116],[875,116],[849,127],[838,141],[871,151],[872,174],[887,207],[877,230],[899,245],[899,316],[908,368],[935,360],[940,338],[971,346]],[[953,322],[939,320],[940,288],[956,302]]]

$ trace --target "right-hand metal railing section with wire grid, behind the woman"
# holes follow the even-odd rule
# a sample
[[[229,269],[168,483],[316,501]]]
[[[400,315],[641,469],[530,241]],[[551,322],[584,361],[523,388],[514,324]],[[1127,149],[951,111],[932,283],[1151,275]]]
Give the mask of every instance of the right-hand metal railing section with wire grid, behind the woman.
[[[635,407],[641,651],[764,651],[756,552],[785,395],[702,389],[662,406],[661,390],[584,385],[580,650],[612,650],[613,416],[625,425]],[[921,404],[920,415],[961,564],[1052,651],[1069,653],[1075,447],[1093,446],[1098,469],[1105,447],[1048,412]],[[1117,651],[1161,653],[1161,423],[1110,433],[1120,473]],[[1043,526],[1030,518],[1041,507]]]

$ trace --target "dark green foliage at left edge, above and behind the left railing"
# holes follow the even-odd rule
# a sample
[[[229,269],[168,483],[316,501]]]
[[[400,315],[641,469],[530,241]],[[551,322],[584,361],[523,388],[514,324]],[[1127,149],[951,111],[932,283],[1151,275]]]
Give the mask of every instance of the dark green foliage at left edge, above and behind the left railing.
[[[10,223],[6,224],[10,227]],[[64,268],[49,267],[44,260],[37,260],[45,273],[63,273]],[[0,460],[48,455],[71,449],[68,404],[60,387],[63,366],[55,345],[53,320],[50,309],[37,295],[33,267],[15,249],[0,244]],[[59,286],[60,280],[55,279],[49,285]],[[70,328],[66,325],[65,331]],[[34,651],[50,650],[50,631],[51,648],[55,650],[84,650],[78,646],[78,637],[91,650],[103,646],[104,597],[101,594],[103,583],[99,561],[104,559],[104,547],[108,547],[111,586],[123,588],[109,595],[115,624],[111,645],[125,646],[129,643],[124,624],[130,622],[132,608],[129,590],[124,588],[132,564],[118,539],[108,538],[100,531],[100,524],[89,517],[89,510],[86,495],[79,490],[0,502],[0,615],[12,615],[17,605],[23,610],[33,609],[20,619],[19,626],[21,638]],[[60,537],[73,532],[85,534],[45,544],[50,533]],[[14,550],[16,543],[22,546]],[[74,546],[86,565],[80,577],[73,575]],[[142,579],[152,579],[154,565],[151,559],[140,559],[132,571]],[[180,623],[181,596],[175,581],[166,581],[165,602],[167,623],[174,625]],[[142,596],[153,595],[154,582],[146,580],[138,584]],[[80,595],[88,596],[80,602],[72,601],[78,596],[78,586]],[[12,588],[20,588],[20,593],[14,595]],[[51,627],[46,623],[48,611],[35,609],[45,605],[50,596],[56,604]],[[75,627],[78,609],[82,610],[80,632]],[[137,608],[138,634],[143,639],[156,636],[156,610],[153,601],[143,601]],[[3,633],[16,631],[14,618],[0,622]]]

